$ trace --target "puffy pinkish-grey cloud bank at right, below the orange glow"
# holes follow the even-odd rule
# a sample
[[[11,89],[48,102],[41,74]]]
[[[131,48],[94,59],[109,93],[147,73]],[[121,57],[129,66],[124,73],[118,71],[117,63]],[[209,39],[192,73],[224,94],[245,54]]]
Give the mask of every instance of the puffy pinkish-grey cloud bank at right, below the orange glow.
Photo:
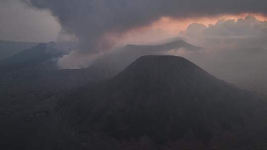
[[[190,42],[210,49],[267,47],[267,21],[253,16],[220,19],[209,26],[194,23],[180,34]]]

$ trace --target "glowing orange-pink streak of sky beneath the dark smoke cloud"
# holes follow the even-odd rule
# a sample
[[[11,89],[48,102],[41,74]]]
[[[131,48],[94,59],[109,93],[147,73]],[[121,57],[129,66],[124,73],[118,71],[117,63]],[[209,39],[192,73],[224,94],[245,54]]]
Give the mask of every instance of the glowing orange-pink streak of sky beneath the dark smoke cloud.
[[[251,15],[260,21],[266,21],[267,16],[262,14],[243,13],[239,15],[220,15],[212,17],[193,17],[187,19],[175,19],[170,17],[162,17],[158,21],[141,28],[135,28],[128,31],[123,38],[120,39],[120,45],[124,44],[154,44],[164,42],[166,39],[176,38],[181,31],[185,31],[188,25],[192,23],[200,23],[206,26],[215,24],[220,19],[240,19]]]

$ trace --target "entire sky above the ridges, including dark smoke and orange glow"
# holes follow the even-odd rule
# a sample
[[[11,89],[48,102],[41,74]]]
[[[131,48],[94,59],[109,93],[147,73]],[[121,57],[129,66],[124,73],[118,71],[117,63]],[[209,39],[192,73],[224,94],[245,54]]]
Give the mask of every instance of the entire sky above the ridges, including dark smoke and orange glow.
[[[110,3],[108,0],[0,0],[0,39],[49,42],[64,40],[64,36],[70,35],[80,39],[80,49],[98,52],[114,45],[157,43],[175,38],[192,23],[208,26],[219,19],[244,18],[251,14],[259,20],[266,19],[265,0],[234,0],[235,8],[219,5],[226,5],[229,0],[215,1],[207,5],[209,0],[202,3],[191,0],[154,0],[153,3],[151,0]],[[211,7],[212,4],[218,8]],[[208,8],[210,10],[205,10]]]

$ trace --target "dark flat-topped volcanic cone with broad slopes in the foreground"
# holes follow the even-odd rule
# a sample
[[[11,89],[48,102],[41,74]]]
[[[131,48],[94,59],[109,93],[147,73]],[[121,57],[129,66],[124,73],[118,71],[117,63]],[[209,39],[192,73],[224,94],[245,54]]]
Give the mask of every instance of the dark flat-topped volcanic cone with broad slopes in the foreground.
[[[109,149],[138,150],[152,143],[146,150],[230,150],[254,146],[267,124],[266,106],[265,96],[226,83],[182,57],[147,55],[112,79],[62,98],[56,110],[77,136],[86,133],[83,144],[95,150],[107,143]],[[106,136],[110,140],[100,148],[92,144],[95,135],[103,135],[98,143]],[[133,148],[129,141],[139,143]]]

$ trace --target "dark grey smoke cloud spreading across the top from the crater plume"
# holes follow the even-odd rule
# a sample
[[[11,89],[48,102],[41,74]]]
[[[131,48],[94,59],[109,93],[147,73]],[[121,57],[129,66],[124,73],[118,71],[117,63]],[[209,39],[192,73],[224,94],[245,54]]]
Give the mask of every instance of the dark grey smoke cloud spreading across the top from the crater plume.
[[[25,1],[25,0],[24,0]],[[125,31],[149,25],[162,16],[174,18],[238,14],[267,14],[266,0],[27,0],[49,9],[63,29],[75,34],[80,49],[109,49]]]

